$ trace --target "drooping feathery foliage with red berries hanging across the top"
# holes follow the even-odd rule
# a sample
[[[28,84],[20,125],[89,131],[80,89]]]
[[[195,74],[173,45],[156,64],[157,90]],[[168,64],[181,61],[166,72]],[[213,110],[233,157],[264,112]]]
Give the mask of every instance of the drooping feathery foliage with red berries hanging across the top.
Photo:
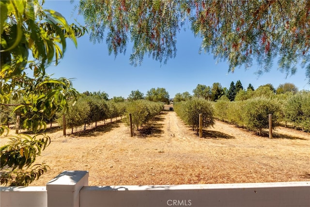
[[[299,63],[310,81],[307,0],[81,0],[78,12],[91,39],[105,39],[110,53],[125,52],[132,41],[131,64],[141,64],[144,55],[160,62],[174,57],[177,32],[189,22],[202,38],[200,51],[228,61],[229,71],[257,62],[261,74],[279,57],[280,71],[294,74]]]

